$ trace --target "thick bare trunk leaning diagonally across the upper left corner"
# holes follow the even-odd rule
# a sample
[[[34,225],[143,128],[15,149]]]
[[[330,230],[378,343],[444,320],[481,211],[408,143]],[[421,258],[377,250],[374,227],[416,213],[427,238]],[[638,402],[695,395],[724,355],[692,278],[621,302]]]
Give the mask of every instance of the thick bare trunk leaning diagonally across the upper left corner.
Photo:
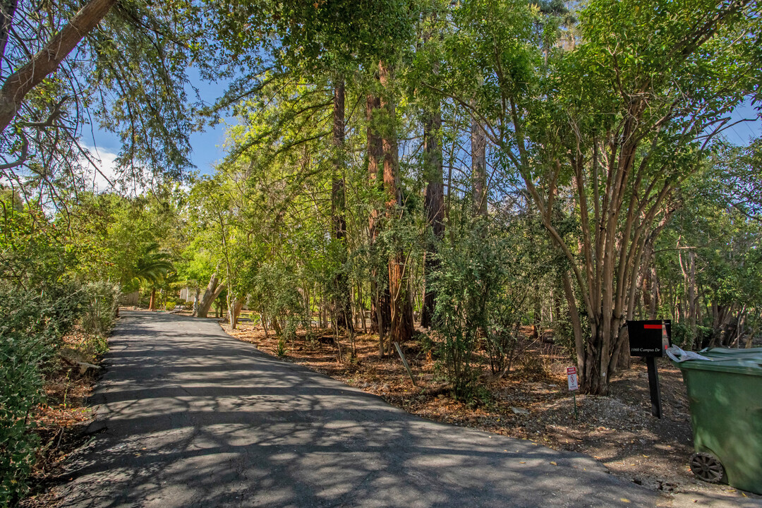
[[[117,0],[90,0],[74,17],[51,37],[39,53],[5,79],[0,88],[0,133],[16,116],[24,97],[58,65],[108,14]]]

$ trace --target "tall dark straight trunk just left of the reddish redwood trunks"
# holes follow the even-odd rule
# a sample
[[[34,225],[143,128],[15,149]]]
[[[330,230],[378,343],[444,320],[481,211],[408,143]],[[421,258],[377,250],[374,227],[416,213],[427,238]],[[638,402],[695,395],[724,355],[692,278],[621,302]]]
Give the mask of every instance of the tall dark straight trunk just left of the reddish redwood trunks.
[[[334,85],[334,110],[333,110],[333,145],[334,145],[334,177],[331,185],[331,219],[333,222],[333,235],[335,241],[341,245],[340,259],[341,268],[336,274],[334,306],[336,326],[351,331],[352,321],[347,320],[351,316],[351,296],[349,291],[349,277],[346,272],[347,264],[347,219],[344,197],[344,80],[337,78]]]

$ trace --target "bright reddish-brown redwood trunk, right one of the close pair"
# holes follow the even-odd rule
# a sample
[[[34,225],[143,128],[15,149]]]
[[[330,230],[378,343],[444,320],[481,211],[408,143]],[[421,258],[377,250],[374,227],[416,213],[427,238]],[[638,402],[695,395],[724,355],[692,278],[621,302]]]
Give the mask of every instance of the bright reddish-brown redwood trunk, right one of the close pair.
[[[402,212],[402,187],[399,181],[399,154],[395,126],[396,106],[391,82],[392,69],[385,62],[379,62],[379,80],[385,88],[381,107],[386,121],[381,145],[383,147],[383,184],[386,191],[386,219],[391,223]],[[404,342],[413,335],[413,306],[410,300],[407,268],[405,252],[399,245],[392,246],[392,254],[389,257],[389,294],[392,297],[390,343]],[[391,350],[390,347],[389,350]]]

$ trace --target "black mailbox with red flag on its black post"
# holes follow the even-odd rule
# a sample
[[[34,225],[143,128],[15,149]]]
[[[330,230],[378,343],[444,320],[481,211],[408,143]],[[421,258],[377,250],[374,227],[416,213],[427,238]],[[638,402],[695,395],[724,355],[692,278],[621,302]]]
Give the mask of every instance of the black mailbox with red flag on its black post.
[[[671,324],[668,319],[627,322],[629,355],[645,356],[648,388],[651,391],[651,412],[657,418],[661,418],[661,392],[656,358],[664,356],[664,350],[671,346]]]

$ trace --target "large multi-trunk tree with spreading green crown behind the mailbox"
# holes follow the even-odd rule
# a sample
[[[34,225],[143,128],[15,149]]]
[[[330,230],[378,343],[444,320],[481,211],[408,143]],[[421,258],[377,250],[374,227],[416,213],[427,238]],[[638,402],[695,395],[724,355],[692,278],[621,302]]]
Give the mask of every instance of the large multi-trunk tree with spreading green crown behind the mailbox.
[[[454,14],[462,30],[449,44],[447,78],[427,85],[481,121],[566,258],[586,391],[608,391],[645,243],[670,213],[672,191],[760,82],[753,8],[591,2],[570,50],[548,50],[534,30],[543,14],[521,2],[463,2]]]

